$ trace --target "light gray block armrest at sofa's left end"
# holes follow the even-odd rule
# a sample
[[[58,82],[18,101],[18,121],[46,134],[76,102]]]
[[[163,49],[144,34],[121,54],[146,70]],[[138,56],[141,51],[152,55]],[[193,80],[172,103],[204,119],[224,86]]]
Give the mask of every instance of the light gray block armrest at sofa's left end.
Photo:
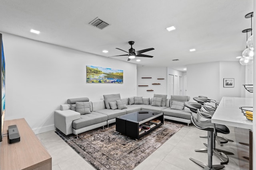
[[[65,135],[72,133],[72,121],[80,119],[81,114],[73,110],[54,111],[54,125]]]

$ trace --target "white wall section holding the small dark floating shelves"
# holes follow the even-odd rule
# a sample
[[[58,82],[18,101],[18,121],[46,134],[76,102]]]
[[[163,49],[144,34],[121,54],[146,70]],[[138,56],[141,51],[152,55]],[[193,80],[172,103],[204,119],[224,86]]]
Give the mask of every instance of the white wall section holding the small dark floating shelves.
[[[142,78],[152,77],[152,78]],[[164,78],[158,80],[157,78]],[[152,85],[152,83],[160,83],[160,85]],[[148,86],[138,86],[148,85]],[[137,67],[137,96],[152,98],[154,94],[167,94],[167,68],[166,67]],[[154,90],[154,91],[147,91]],[[131,95],[132,96],[132,95]]]

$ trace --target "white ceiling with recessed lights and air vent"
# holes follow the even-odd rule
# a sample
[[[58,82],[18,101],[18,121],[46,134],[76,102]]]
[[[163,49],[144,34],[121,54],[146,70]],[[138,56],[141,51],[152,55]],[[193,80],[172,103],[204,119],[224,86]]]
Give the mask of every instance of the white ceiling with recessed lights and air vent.
[[[136,51],[154,48],[143,53],[154,57],[112,58],[184,71],[187,64],[239,61],[246,48],[242,30],[251,27],[244,16],[252,11],[253,0],[0,0],[0,32],[105,57],[126,54],[116,48],[128,51],[128,41],[135,41]],[[89,25],[96,17],[111,25]],[[166,31],[173,25],[176,30]]]

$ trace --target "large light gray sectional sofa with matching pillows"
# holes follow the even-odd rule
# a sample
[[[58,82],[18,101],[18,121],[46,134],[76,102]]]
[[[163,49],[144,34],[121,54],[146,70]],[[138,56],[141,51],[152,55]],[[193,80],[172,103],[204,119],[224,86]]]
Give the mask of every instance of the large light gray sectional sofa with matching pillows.
[[[120,98],[120,94],[103,95],[104,100],[89,101],[88,98],[68,99],[54,111],[54,125],[65,135],[78,135],[98,127],[116,122],[116,117],[140,110],[159,111],[165,119],[191,123],[191,112],[184,109],[189,96],[154,94],[153,98]]]

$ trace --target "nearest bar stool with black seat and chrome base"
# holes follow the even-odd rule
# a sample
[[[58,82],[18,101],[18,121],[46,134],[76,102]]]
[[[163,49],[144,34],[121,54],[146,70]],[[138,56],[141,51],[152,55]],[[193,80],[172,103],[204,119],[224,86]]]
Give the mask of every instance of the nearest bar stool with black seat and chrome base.
[[[196,103],[196,102],[185,102],[184,106],[188,107],[194,113],[199,113],[198,109],[201,109],[202,105],[199,103]],[[211,168],[215,168],[215,169],[224,168],[224,166],[222,166],[222,165],[228,164],[228,156],[226,156],[226,154],[224,154],[224,152],[219,152],[217,149],[215,149],[215,135],[214,134],[215,133],[228,134],[228,133],[230,133],[228,127],[226,127],[225,125],[211,123],[210,120],[198,121],[195,117],[193,117],[193,115],[191,115],[191,120],[192,120],[192,123],[198,129],[208,131],[208,143],[205,144],[206,147],[208,147],[208,148],[203,149],[204,150],[203,152],[208,153],[208,166],[206,166],[204,163],[197,161],[193,158],[190,158],[190,160],[192,160],[193,162],[195,162],[196,164],[198,164],[204,168],[206,168],[206,167],[208,167],[210,169]],[[213,153],[222,161],[220,163],[221,165],[212,166],[212,154]]]

